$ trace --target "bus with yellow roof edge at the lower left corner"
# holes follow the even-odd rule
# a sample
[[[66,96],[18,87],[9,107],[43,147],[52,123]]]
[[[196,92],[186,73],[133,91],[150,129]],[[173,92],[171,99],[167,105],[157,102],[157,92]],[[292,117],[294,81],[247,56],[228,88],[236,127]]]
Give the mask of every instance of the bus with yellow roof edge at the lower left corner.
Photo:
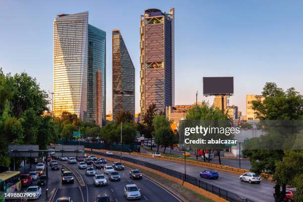
[[[19,192],[20,189],[20,171],[5,171],[0,173],[0,202],[4,202],[4,193]]]

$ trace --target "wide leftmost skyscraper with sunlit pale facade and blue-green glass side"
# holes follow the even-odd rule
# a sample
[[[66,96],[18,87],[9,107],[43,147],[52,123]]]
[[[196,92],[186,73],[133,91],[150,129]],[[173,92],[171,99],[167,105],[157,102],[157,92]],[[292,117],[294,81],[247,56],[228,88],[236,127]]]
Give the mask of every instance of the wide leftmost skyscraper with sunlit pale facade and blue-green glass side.
[[[105,32],[89,25],[88,15],[60,14],[53,20],[53,111],[55,116],[68,111],[95,122],[101,90],[98,111],[105,123]],[[96,87],[97,72],[101,89]]]

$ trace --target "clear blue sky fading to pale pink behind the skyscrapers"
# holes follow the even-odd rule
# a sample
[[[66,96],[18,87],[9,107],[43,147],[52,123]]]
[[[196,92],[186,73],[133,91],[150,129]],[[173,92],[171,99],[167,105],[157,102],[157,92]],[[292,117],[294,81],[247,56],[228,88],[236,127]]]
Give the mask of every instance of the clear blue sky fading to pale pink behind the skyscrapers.
[[[246,95],[266,82],[303,92],[301,0],[0,0],[0,67],[27,72],[52,92],[53,18],[89,11],[106,32],[106,111],[111,104],[111,31],[119,29],[136,69],[140,111],[140,15],[175,8],[175,104],[213,102],[202,77],[233,76],[230,104],[246,113]]]

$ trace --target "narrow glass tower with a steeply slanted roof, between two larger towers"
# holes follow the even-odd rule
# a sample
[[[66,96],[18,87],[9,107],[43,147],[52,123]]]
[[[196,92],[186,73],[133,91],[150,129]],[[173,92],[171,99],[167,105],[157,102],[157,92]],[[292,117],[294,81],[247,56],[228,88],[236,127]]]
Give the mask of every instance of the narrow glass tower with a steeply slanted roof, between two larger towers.
[[[119,30],[112,31],[112,114],[130,111],[135,117],[135,67]]]

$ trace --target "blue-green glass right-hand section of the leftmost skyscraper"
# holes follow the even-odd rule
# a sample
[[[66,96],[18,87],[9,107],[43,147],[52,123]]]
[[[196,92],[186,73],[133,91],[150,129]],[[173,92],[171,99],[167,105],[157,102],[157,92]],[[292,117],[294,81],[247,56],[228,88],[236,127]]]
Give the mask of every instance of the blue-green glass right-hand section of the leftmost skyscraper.
[[[106,33],[92,25],[88,25],[88,83],[87,83],[87,120],[97,124],[96,113],[101,115],[98,125],[104,125],[106,121]],[[101,77],[99,75],[101,74]],[[97,80],[98,77],[98,80]],[[98,86],[96,81],[101,81]],[[100,92],[97,92],[97,91]],[[99,96],[97,98],[96,96]],[[100,97],[101,96],[101,97]],[[101,103],[96,102],[101,101]],[[101,106],[101,108],[96,108]]]

